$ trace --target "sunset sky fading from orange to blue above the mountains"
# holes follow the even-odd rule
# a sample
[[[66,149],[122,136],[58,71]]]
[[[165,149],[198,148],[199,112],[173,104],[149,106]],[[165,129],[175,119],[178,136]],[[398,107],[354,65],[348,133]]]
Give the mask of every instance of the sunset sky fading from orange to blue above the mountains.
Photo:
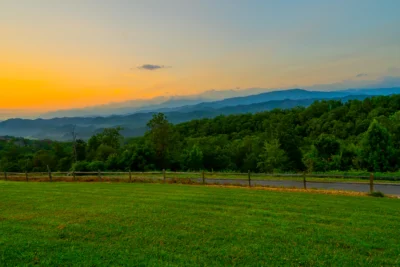
[[[395,0],[1,0],[0,111],[399,77],[399,11]]]

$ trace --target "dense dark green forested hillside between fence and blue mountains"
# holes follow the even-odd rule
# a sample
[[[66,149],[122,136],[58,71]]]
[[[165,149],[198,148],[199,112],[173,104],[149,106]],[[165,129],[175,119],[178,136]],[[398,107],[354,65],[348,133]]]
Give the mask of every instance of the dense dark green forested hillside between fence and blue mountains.
[[[154,114],[142,137],[109,128],[87,142],[0,140],[4,171],[397,171],[400,95],[316,101],[309,107],[172,125]],[[75,147],[75,149],[74,149]],[[76,151],[76,152],[75,152]]]

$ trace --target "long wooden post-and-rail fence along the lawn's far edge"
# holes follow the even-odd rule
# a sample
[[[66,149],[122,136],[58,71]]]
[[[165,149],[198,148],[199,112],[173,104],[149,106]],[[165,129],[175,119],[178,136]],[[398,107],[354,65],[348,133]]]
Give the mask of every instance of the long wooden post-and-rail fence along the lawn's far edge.
[[[378,178],[378,179],[376,179]],[[385,179],[386,178],[386,179]],[[1,179],[1,178],[0,178]],[[376,183],[376,180],[393,182],[400,181],[400,177],[375,177],[373,173],[365,175],[340,175],[340,174],[277,174],[277,173],[224,173],[224,172],[4,172],[3,180],[7,181],[161,181],[161,182],[186,182],[199,184],[240,184],[245,186],[271,186],[271,187],[296,187],[296,188],[332,188],[339,190],[355,190],[373,192],[376,186],[392,186],[391,192],[400,195],[400,182],[398,184]],[[352,186],[350,186],[352,185]],[[356,186],[357,185],[357,186]],[[362,188],[361,188],[361,187]],[[361,189],[359,189],[360,187]],[[343,189],[341,189],[343,188]],[[398,192],[398,193],[397,193]]]

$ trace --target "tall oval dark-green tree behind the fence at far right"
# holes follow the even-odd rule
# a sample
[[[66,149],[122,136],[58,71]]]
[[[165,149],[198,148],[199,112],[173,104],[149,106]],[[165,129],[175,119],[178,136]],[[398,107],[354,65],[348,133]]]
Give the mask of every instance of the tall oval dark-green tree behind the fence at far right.
[[[388,130],[373,120],[361,141],[361,157],[369,171],[384,172],[391,169],[394,155]]]

